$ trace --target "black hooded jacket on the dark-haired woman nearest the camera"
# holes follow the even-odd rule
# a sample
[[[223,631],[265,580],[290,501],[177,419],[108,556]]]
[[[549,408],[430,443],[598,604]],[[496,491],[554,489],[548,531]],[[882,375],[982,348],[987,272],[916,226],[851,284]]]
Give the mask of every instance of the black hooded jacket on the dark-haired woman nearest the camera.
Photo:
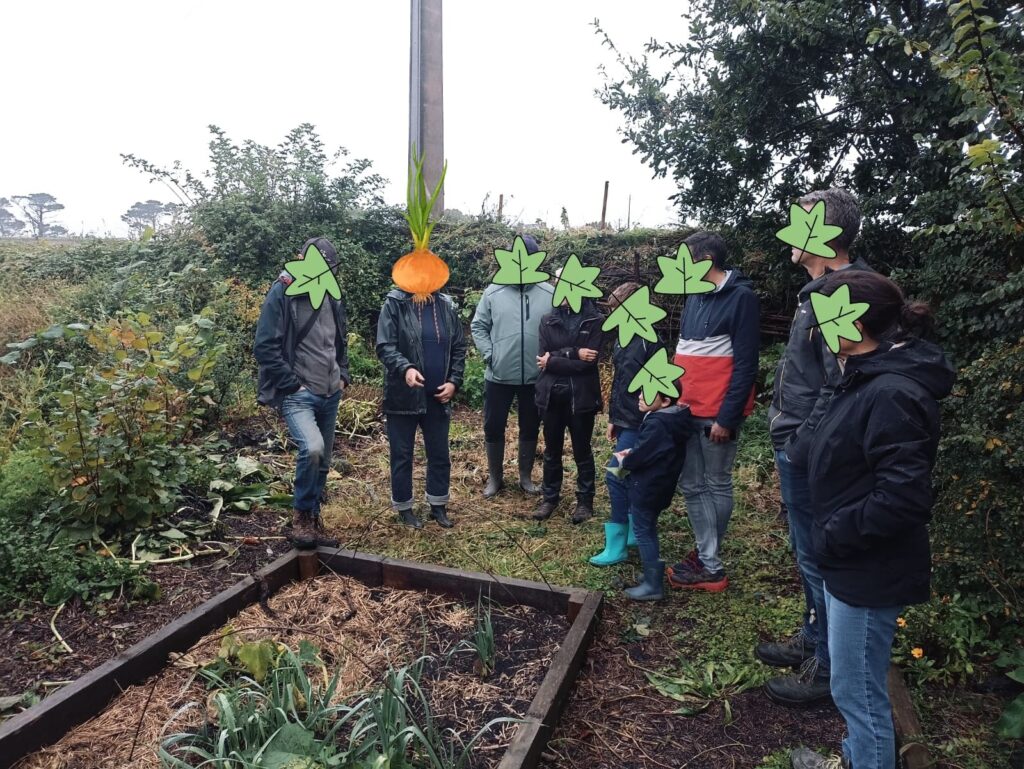
[[[828,592],[845,603],[929,599],[938,400],[954,376],[922,340],[850,357],[808,439],[812,543]]]

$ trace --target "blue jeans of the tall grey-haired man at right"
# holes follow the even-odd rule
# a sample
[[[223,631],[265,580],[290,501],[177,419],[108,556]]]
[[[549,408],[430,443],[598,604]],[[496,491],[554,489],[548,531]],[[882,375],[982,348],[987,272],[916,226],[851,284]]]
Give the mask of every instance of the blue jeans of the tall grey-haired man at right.
[[[775,452],[778,482],[782,502],[790,515],[790,543],[797,555],[797,566],[804,583],[804,637],[813,641],[815,656],[828,670],[828,609],[825,606],[825,586],[821,580],[817,556],[811,544],[811,486],[807,470],[790,462],[785,452]],[[859,769],[859,768],[858,768]]]

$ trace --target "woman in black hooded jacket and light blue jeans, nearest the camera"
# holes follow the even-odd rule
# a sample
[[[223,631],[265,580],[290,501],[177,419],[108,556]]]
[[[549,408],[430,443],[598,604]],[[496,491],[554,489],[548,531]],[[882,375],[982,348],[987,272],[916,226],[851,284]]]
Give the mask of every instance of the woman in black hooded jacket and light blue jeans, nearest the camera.
[[[896,617],[929,598],[938,400],[954,374],[942,350],[918,338],[931,326],[927,305],[906,303],[874,272],[836,272],[821,293],[842,286],[852,304],[869,305],[855,321],[862,339],[840,338],[842,379],[796,451],[808,458],[831,694],[848,731],[843,760],[855,769],[894,769],[889,658]],[[796,769],[831,761],[804,749],[793,754]]]

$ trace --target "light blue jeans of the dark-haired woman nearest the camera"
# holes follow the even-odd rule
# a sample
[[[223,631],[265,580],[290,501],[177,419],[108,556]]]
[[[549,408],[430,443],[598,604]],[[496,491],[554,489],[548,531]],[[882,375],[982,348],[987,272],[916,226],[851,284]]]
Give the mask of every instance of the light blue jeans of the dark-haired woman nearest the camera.
[[[843,755],[856,769],[896,769],[889,659],[902,606],[851,606],[825,589],[831,692],[846,720]]]

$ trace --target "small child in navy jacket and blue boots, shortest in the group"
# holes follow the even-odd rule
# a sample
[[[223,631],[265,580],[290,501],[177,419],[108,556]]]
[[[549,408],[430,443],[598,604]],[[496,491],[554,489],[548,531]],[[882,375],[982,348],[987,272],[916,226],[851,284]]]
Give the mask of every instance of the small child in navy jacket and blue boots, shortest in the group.
[[[629,473],[633,527],[643,566],[643,581],[628,589],[626,596],[658,601],[664,595],[665,561],[657,547],[657,516],[672,504],[691,428],[689,409],[668,395],[658,393],[653,403],[641,395],[640,411],[644,418],[636,445],[614,455],[622,473]]]

